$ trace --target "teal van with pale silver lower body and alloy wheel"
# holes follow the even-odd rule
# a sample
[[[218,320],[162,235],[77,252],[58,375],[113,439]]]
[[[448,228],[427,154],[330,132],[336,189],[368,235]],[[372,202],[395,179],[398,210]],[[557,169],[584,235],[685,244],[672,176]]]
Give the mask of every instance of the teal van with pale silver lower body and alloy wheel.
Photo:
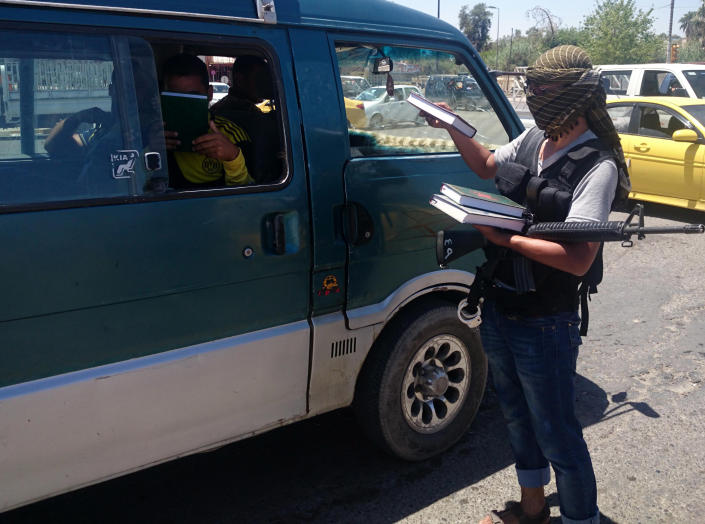
[[[404,459],[462,436],[480,259],[439,270],[428,199],[490,183],[422,121],[369,127],[341,83],[393,116],[396,86],[467,75],[487,103],[461,114],[505,144],[522,125],[459,31],[384,0],[0,0],[0,24],[0,510],[347,406]],[[254,184],[174,186],[178,53],[215,82],[266,64]],[[79,113],[101,117],[48,147]]]

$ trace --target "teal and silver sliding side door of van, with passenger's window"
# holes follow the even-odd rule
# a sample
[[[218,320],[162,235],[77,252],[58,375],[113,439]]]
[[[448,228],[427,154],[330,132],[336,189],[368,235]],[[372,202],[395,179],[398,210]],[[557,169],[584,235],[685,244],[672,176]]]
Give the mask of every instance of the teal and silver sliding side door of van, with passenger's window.
[[[90,10],[32,28],[60,9],[0,8],[31,15],[0,36],[18,108],[0,124],[0,510],[307,411],[310,213],[285,31]],[[162,67],[180,52],[210,80],[266,62],[268,141],[212,117],[254,183],[166,151]],[[279,166],[262,178],[258,140]],[[215,178],[177,186],[176,166]]]

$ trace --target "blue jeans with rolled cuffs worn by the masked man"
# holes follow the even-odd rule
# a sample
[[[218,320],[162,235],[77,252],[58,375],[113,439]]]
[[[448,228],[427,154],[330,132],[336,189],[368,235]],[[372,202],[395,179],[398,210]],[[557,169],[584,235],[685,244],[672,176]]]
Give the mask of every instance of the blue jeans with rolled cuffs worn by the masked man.
[[[519,485],[548,484],[550,463],[563,522],[597,524],[595,473],[574,409],[579,325],[577,312],[518,317],[503,315],[487,301],[480,333]]]

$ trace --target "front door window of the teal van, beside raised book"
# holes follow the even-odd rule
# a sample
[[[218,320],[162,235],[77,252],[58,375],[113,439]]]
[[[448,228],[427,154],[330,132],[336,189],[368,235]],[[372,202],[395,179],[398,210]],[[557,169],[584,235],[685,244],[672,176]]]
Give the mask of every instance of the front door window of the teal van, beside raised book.
[[[348,43],[336,44],[336,55],[353,157],[457,152],[447,131],[428,126],[418,109],[406,102],[411,93],[448,104],[477,128],[475,138],[490,149],[509,141],[472,73],[458,64],[455,55]],[[374,72],[381,57],[392,61],[391,95],[387,74]]]

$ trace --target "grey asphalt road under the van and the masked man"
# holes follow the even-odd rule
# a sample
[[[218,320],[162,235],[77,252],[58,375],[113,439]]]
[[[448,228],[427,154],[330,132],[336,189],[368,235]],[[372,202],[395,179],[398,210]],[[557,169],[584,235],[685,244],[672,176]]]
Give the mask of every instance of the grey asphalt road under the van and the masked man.
[[[647,205],[663,218],[705,214]],[[705,235],[608,244],[590,304],[577,410],[603,522],[703,522]],[[0,472],[1,474],[1,472]],[[555,485],[548,488],[558,515]],[[442,457],[389,458],[348,411],[281,428],[0,515],[2,522],[477,522],[517,490],[489,391],[471,431]],[[557,520],[556,520],[557,522]]]

